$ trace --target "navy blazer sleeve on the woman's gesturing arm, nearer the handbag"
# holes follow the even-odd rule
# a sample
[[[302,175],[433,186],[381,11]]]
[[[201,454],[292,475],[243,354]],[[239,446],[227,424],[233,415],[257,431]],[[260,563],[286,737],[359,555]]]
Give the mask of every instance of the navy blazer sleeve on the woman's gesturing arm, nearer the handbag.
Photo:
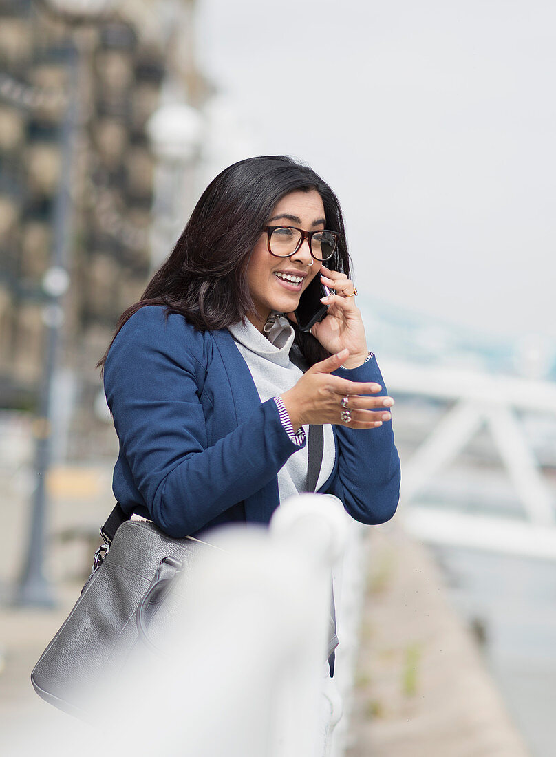
[[[173,537],[199,531],[259,491],[300,448],[272,399],[208,444],[199,388],[205,367],[188,335],[202,338],[179,316],[166,321],[163,308],[142,308],[117,335],[104,368],[120,455],[151,518]]]

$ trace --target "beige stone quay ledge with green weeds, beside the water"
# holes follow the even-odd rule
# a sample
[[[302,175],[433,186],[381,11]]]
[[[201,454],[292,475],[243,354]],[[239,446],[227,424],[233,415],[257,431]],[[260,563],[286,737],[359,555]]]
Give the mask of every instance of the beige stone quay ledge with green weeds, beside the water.
[[[369,534],[349,757],[527,757],[427,550]]]

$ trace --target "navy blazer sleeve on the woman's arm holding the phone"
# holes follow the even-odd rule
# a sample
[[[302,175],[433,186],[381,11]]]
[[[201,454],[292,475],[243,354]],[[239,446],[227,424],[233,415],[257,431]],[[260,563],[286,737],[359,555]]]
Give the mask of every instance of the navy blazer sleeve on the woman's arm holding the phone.
[[[376,357],[353,369],[338,369],[334,375],[356,382],[377,382],[386,396]],[[384,408],[390,410],[391,408]],[[394,445],[392,422],[378,428],[355,429],[334,426],[338,441],[338,468],[328,491],[342,500],[349,515],[375,525],[392,518],[399,500],[399,456]]]

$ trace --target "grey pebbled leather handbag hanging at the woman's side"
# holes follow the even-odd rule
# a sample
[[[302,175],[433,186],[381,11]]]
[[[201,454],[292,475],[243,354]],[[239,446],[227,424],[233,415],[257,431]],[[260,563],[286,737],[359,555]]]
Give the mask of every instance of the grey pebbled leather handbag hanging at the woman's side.
[[[176,603],[170,595],[187,584],[181,577],[187,579],[200,550],[211,548],[128,518],[116,505],[101,528],[104,544],[79,599],[31,674],[42,699],[84,719],[95,693],[117,679],[139,643],[160,651],[153,633],[156,628],[163,635],[172,622]]]

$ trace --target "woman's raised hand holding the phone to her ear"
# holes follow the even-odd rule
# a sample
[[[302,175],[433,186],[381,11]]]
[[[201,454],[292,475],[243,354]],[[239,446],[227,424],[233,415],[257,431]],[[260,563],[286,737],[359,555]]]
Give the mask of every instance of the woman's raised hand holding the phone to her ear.
[[[353,282],[345,273],[332,271],[326,266],[321,266],[318,275],[321,276],[322,283],[329,289],[334,289],[336,294],[323,300],[330,305],[328,313],[324,320],[315,323],[311,333],[333,355],[348,349],[349,359],[343,365],[346,368],[356,368],[367,359],[368,347],[361,312],[353,296]]]

